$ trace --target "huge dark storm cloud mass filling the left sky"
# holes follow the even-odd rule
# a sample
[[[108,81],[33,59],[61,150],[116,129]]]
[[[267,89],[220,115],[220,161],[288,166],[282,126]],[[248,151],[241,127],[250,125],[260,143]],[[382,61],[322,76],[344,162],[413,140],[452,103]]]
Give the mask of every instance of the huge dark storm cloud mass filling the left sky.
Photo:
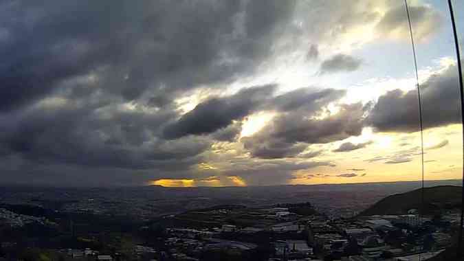
[[[1,165],[14,165],[14,157],[30,170],[49,166],[38,172],[56,180],[69,168],[79,176],[74,166],[101,175],[98,181],[130,170],[185,177],[212,139],[232,141],[241,126],[225,113],[225,123],[195,129],[188,123],[195,115],[184,115],[179,125],[192,130],[165,140],[166,123],[179,118],[173,101],[253,73],[272,55],[269,43],[283,36],[293,10],[291,1],[1,3]],[[262,105],[256,95],[212,98],[195,113],[203,106],[243,117]],[[179,135],[203,131],[212,134]]]

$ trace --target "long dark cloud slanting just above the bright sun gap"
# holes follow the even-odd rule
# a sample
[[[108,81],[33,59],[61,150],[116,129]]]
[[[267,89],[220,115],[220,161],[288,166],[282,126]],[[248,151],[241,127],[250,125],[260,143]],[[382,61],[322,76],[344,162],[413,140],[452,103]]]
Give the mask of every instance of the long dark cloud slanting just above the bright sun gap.
[[[230,126],[232,121],[241,120],[258,109],[315,113],[322,106],[339,100],[345,94],[345,91],[335,89],[314,91],[309,88],[300,88],[273,98],[272,95],[275,89],[276,86],[274,85],[250,87],[234,95],[210,98],[198,104],[192,111],[182,115],[177,122],[168,125],[164,130],[164,137],[176,139],[186,135],[213,133]],[[284,151],[288,150],[288,148],[278,150],[280,152],[275,151],[270,152],[270,154],[278,155],[282,153],[282,155],[286,155],[287,153]],[[291,148],[291,150],[296,151],[298,149]]]

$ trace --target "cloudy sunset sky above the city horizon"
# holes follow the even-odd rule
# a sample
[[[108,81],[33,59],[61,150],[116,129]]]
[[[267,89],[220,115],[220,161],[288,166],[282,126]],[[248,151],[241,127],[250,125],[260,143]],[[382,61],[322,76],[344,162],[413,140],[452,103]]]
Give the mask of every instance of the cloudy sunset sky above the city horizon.
[[[459,179],[448,5],[408,3],[424,178]],[[0,57],[3,184],[421,179],[402,0],[6,0]]]

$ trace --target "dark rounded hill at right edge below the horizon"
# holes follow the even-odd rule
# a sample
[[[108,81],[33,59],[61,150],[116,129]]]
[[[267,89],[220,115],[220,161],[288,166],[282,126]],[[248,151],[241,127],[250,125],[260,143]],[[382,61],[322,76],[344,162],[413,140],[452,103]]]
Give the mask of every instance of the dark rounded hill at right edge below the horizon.
[[[461,206],[462,187],[442,185],[424,188],[423,214],[434,214],[439,209]],[[421,209],[422,189],[387,196],[364,210],[360,216],[407,214],[408,209]]]

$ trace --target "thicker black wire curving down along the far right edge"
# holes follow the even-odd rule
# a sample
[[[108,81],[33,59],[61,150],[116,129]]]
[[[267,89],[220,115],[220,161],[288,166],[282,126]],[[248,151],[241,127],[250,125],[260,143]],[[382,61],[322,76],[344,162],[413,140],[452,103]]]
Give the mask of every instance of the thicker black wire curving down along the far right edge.
[[[450,6],[450,16],[451,16],[451,24],[453,27],[453,34],[454,34],[454,47],[456,48],[456,58],[458,60],[458,75],[459,75],[459,93],[461,94],[461,123],[464,127],[464,90],[463,90],[463,69],[461,67],[461,54],[459,51],[459,38],[458,33],[456,32],[456,21],[454,21],[454,12],[453,12],[453,5],[451,0],[448,0],[448,5]],[[459,227],[459,243],[458,243],[458,256],[463,256],[463,225],[464,225],[464,128],[463,128],[463,193],[461,199],[461,226]]]

